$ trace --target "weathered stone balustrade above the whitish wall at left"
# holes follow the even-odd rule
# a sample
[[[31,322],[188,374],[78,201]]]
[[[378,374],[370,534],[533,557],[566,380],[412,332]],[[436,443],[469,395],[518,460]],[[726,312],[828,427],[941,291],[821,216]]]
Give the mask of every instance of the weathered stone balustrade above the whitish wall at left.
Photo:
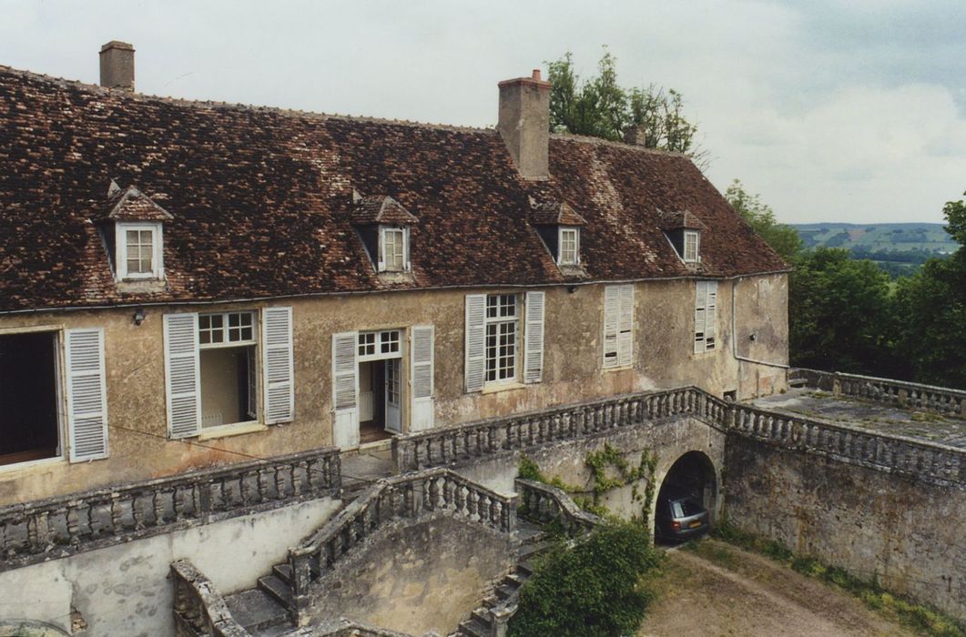
[[[0,508],[0,570],[337,497],[341,485],[338,450],[326,448],[8,506]]]

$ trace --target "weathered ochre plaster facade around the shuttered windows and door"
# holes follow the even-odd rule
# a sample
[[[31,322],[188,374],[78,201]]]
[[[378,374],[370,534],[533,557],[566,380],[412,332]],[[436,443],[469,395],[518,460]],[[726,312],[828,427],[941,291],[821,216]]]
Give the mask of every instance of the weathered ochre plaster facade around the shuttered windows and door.
[[[104,485],[124,484],[216,463],[271,457],[331,443],[331,339],[349,330],[436,326],[436,422],[479,418],[581,402],[614,394],[696,384],[717,395],[740,397],[777,391],[784,371],[742,363],[731,349],[730,281],[719,285],[720,346],[694,354],[695,281],[636,284],[634,365],[604,371],[604,286],[548,288],[543,382],[497,392],[464,392],[465,297],[489,290],[358,294],[279,301],[294,316],[295,404],[293,423],[192,444],[166,440],[162,316],[188,308],[147,308],[133,324],[130,308],[0,317],[0,330],[47,325],[101,326],[105,331],[110,457],[70,464],[52,459],[0,467],[0,506]],[[738,285],[739,353],[767,361],[787,358],[786,276],[749,277]],[[506,290],[516,291],[522,290]],[[189,308],[198,312],[255,310],[265,303]],[[754,342],[748,338],[756,335]],[[521,339],[521,349],[523,341]],[[408,423],[409,344],[403,344],[403,422]],[[522,358],[522,357],[521,357]],[[520,362],[522,365],[522,361]],[[261,390],[260,390],[261,391]],[[62,436],[64,439],[64,436]]]

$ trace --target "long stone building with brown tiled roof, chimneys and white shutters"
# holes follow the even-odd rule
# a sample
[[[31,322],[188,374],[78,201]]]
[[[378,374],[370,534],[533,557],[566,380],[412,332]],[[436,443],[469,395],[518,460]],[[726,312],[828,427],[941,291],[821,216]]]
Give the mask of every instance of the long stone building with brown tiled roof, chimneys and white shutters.
[[[787,267],[680,154],[0,67],[0,504],[650,388],[781,389]],[[107,88],[110,87],[110,88]]]

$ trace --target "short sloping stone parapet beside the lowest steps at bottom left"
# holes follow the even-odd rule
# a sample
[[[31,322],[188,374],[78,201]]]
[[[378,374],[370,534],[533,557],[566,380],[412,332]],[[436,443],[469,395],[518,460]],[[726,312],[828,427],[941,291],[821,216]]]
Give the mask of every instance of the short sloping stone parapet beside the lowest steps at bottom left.
[[[251,637],[232,618],[211,580],[187,560],[171,565],[175,637]]]

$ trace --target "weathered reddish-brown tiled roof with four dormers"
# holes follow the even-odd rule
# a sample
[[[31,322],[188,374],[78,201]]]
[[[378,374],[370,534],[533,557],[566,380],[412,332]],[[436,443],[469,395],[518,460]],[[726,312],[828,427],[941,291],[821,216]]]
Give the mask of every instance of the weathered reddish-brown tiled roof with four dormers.
[[[552,136],[550,180],[527,181],[492,129],[144,97],[0,67],[0,167],[0,311],[562,283],[531,200],[581,210],[590,281],[694,275],[659,208],[707,226],[703,276],[785,268],[687,157],[573,136]],[[162,289],[119,290],[111,276],[91,221],[111,179],[174,217]],[[412,279],[375,272],[354,189],[419,219]]]

